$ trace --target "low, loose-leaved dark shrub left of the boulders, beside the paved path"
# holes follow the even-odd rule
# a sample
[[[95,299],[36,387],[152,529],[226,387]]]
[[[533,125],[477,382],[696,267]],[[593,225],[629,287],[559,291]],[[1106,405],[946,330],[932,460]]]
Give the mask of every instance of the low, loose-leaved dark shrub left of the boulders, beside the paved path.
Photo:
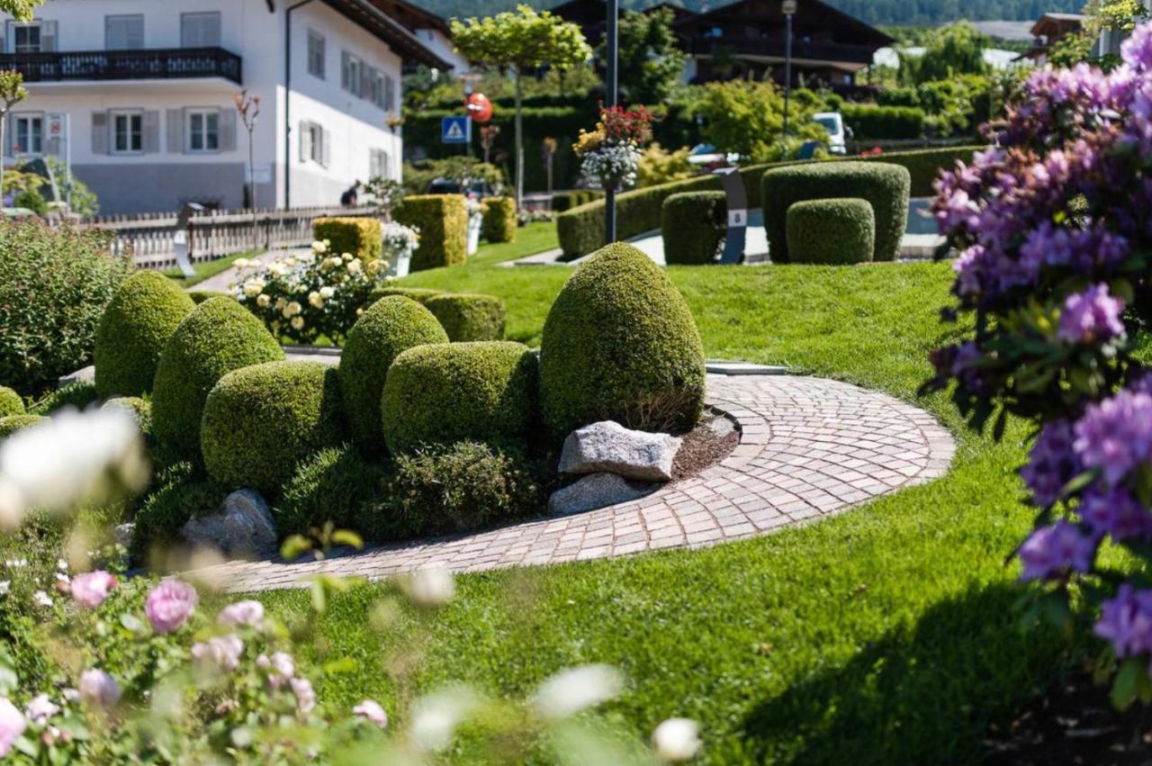
[[[540,513],[540,485],[524,457],[475,441],[396,457],[395,514],[417,534],[450,534]]]

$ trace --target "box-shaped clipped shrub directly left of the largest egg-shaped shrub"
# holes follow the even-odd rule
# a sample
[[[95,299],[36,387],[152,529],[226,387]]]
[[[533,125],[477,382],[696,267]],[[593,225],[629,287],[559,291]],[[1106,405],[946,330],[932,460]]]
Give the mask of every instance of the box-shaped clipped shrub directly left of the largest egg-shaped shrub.
[[[536,422],[536,355],[520,343],[419,346],[384,384],[384,438],[393,453],[465,439],[518,440]]]

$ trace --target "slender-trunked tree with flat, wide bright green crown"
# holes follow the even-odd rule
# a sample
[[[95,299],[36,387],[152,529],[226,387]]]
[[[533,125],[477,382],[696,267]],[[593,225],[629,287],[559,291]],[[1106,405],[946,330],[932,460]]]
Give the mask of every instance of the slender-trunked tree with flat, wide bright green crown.
[[[592,48],[576,24],[518,6],[515,13],[485,18],[452,20],[456,50],[477,66],[509,68],[516,86],[516,207],[524,194],[524,128],[522,117],[524,70],[540,67],[564,70],[581,66]]]

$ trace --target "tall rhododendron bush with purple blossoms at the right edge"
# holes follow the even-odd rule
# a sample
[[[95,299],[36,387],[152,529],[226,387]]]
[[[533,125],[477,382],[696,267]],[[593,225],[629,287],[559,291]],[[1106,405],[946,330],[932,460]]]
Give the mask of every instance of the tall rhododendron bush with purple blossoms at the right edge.
[[[1149,703],[1152,370],[1135,336],[1152,318],[1152,25],[1109,74],[1033,73],[994,134],[938,183],[961,251],[945,318],[973,332],[934,352],[926,388],[955,384],[961,412],[998,439],[1009,416],[1036,425],[1021,475],[1037,519],[1016,551],[1040,584],[1034,610],[1067,622],[1070,599],[1086,604],[1114,703]]]

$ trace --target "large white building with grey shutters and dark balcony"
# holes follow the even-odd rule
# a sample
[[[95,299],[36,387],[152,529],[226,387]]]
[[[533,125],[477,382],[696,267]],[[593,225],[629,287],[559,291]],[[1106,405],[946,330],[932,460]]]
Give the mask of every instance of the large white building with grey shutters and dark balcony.
[[[403,65],[450,68],[372,0],[47,0],[3,31],[0,68],[30,93],[6,162],[70,158],[106,213],[240,207],[241,88],[260,98],[258,206],[332,205],[357,180],[399,179]]]

